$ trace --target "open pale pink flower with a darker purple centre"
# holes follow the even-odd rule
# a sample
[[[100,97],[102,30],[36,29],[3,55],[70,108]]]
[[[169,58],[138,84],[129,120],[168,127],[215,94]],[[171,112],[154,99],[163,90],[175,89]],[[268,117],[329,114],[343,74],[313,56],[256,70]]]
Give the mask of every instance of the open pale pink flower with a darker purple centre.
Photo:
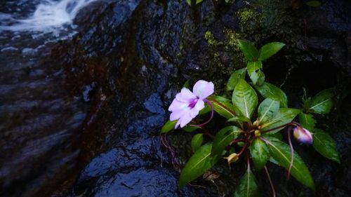
[[[195,118],[199,111],[204,109],[204,102],[211,105],[211,102],[206,100],[206,97],[213,94],[213,92],[213,83],[204,80],[197,81],[192,91],[188,88],[183,88],[168,108],[168,111],[172,112],[169,119],[171,121],[178,120],[175,128],[178,128],[179,125],[180,128],[183,128],[187,123],[190,123],[192,118]]]

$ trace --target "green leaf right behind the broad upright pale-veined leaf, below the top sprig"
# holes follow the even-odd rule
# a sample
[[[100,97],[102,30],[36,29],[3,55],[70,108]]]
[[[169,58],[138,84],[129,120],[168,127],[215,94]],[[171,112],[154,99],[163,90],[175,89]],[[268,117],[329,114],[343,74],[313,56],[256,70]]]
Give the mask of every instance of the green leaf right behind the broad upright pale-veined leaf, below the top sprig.
[[[256,90],[265,98],[271,98],[272,100],[277,100],[280,102],[282,107],[288,107],[288,97],[286,97],[283,90],[274,86],[271,83],[263,83],[262,86],[254,86]]]

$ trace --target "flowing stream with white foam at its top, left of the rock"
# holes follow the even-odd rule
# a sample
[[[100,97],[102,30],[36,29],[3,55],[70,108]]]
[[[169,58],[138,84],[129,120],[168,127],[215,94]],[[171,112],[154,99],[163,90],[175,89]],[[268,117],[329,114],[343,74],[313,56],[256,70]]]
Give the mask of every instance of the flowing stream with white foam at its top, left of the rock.
[[[73,20],[93,1],[0,1],[0,196],[33,196],[79,154],[88,92],[70,95],[47,57],[77,33]]]

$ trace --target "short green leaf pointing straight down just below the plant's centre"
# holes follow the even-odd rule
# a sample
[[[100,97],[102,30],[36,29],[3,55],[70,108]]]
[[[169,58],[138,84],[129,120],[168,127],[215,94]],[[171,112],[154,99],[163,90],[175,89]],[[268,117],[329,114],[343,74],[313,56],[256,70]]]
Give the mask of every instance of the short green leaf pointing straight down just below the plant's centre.
[[[267,163],[268,158],[270,157],[270,151],[268,150],[267,145],[259,138],[256,138],[252,141],[249,149],[255,169],[261,170],[265,167],[265,163]]]

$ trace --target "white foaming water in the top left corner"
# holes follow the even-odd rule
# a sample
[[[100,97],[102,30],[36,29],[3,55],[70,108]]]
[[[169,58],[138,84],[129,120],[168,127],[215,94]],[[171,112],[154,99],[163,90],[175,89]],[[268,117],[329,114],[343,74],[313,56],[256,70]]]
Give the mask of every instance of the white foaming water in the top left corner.
[[[72,26],[78,11],[96,0],[45,0],[37,6],[36,11],[27,19],[15,19],[8,14],[0,15],[0,19],[8,20],[8,25],[0,26],[0,32],[56,32]]]

